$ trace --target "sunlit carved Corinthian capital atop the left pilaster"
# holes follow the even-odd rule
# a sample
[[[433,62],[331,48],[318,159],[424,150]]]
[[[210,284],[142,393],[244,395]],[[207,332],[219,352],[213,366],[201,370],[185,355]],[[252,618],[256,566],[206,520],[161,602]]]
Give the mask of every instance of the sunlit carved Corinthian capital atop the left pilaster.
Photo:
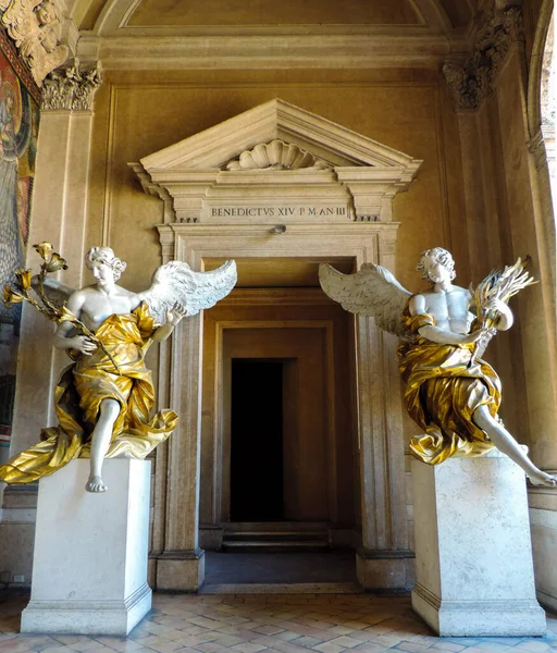
[[[45,79],[41,110],[91,111],[95,91],[102,83],[101,66],[81,69],[74,65],[58,69]]]

